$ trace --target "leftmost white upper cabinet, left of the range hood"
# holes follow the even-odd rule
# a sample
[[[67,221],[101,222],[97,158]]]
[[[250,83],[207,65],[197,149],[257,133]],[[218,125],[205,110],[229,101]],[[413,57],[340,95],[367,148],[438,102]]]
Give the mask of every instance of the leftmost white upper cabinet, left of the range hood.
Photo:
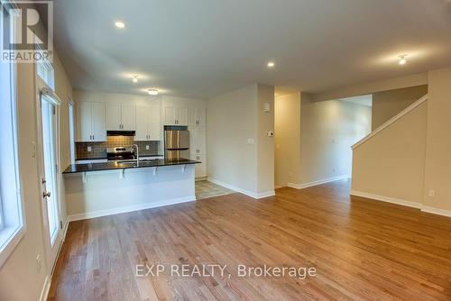
[[[76,140],[78,142],[106,141],[105,104],[79,102],[76,108]]]

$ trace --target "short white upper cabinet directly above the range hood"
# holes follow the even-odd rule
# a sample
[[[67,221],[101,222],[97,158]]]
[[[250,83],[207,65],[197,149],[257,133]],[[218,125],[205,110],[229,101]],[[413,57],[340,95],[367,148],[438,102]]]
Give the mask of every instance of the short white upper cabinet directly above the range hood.
[[[136,110],[134,105],[106,104],[107,131],[134,131]]]

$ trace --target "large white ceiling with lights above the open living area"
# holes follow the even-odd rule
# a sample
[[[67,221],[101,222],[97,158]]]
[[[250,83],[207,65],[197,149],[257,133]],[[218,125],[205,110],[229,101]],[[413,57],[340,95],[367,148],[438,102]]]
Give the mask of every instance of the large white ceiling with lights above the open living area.
[[[208,98],[259,82],[317,93],[451,66],[447,0],[54,3],[56,48],[76,88]]]

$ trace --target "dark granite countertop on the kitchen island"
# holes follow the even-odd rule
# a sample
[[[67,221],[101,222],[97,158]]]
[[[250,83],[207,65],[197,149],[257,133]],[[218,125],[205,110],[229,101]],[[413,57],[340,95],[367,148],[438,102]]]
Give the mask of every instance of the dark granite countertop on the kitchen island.
[[[113,170],[113,169],[141,169],[141,168],[154,168],[161,166],[173,166],[173,165],[186,165],[186,164],[197,164],[201,163],[196,160],[189,159],[155,159],[155,160],[143,160],[143,161],[133,161],[133,162],[117,162],[108,161],[106,163],[90,163],[90,164],[74,164],[69,165],[65,169],[63,174],[71,174],[78,172],[89,172],[89,171],[100,171],[100,170]]]

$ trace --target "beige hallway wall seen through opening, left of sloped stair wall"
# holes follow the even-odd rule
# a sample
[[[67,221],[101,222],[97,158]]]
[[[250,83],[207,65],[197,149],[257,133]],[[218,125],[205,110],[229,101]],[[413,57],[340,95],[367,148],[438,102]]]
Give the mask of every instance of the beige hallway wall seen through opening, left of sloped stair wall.
[[[351,146],[371,132],[371,107],[342,100],[312,101],[302,94],[300,105],[299,186],[351,176]]]

